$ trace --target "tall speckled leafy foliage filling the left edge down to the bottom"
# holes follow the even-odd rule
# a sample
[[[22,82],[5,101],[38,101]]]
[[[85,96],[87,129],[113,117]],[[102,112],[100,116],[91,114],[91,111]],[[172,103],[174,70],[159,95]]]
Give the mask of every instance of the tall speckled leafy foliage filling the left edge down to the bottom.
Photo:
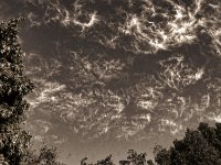
[[[18,40],[21,19],[0,23],[0,164],[55,165],[55,150],[43,146],[40,154],[30,150],[31,135],[21,129],[29,108],[24,96],[34,87],[24,75],[24,53]]]

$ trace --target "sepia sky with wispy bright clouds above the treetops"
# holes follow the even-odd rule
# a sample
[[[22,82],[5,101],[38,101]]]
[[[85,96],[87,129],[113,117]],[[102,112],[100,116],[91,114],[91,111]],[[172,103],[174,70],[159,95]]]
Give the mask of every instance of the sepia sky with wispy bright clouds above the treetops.
[[[199,122],[221,122],[219,0],[1,0],[23,16],[27,129],[78,164],[135,148],[152,158]]]

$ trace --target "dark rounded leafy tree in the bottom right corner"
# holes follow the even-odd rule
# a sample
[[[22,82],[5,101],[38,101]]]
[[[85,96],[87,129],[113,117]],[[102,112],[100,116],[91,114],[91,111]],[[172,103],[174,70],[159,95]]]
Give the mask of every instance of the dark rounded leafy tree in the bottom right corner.
[[[155,153],[158,165],[220,165],[220,123],[215,128],[200,123],[198,130],[187,129],[182,140],[175,140],[169,150],[159,148]]]

